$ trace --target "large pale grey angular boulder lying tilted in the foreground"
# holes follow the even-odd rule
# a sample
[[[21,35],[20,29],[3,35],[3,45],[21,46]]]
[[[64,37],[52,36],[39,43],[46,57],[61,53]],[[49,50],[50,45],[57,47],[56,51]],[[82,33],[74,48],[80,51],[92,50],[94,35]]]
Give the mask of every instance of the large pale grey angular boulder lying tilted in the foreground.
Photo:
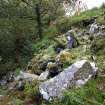
[[[46,100],[59,97],[63,90],[84,85],[97,71],[94,63],[77,61],[59,75],[40,84],[39,90]]]

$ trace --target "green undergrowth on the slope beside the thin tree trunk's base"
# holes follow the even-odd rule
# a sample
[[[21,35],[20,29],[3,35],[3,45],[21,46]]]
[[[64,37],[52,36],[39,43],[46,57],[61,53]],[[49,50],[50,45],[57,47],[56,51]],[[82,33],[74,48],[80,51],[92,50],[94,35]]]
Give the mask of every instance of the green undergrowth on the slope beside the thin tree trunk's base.
[[[57,28],[54,25],[51,25],[44,30],[43,38],[32,44],[32,49],[35,53],[39,53],[54,44],[53,38],[56,36],[57,32]]]

